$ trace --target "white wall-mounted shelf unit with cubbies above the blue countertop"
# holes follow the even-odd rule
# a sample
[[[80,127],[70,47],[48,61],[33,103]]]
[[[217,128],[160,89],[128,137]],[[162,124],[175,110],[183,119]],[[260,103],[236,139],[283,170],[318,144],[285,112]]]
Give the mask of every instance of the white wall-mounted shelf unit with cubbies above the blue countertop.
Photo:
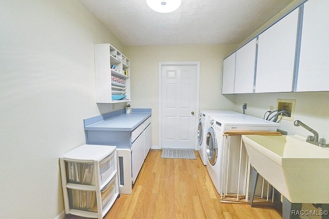
[[[130,60],[111,44],[95,45],[96,102],[130,100]]]

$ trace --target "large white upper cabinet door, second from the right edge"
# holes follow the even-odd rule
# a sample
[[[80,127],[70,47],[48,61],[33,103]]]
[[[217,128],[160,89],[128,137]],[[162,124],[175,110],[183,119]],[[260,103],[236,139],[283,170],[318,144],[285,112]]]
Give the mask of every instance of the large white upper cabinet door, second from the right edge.
[[[298,8],[259,35],[255,93],[292,92]]]

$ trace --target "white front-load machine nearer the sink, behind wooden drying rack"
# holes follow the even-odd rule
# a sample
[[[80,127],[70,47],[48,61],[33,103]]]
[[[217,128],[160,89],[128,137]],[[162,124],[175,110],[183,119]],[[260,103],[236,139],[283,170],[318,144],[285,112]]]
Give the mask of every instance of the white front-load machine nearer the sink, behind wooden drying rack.
[[[280,124],[252,116],[211,115],[206,135],[207,170],[221,196],[246,194],[247,152],[241,147],[241,135],[225,137],[228,130],[276,132]]]

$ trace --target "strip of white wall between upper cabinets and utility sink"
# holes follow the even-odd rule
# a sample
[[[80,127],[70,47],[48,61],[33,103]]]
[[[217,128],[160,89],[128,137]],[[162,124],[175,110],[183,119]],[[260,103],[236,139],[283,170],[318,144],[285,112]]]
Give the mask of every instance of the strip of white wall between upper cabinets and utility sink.
[[[241,111],[247,103],[247,115],[264,117],[269,106],[277,105],[277,99],[295,99],[296,111],[294,119],[301,120],[319,133],[320,138],[326,138],[329,143],[329,92],[275,93],[275,94],[239,94],[235,95],[235,111]],[[268,114],[267,114],[268,115]],[[313,135],[303,127],[296,127],[293,121],[282,120],[280,130],[288,135]]]

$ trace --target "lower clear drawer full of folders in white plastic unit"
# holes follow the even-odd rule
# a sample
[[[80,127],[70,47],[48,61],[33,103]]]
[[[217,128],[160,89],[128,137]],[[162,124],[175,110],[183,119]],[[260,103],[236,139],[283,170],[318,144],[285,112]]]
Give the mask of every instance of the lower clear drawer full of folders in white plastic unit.
[[[105,209],[111,200],[116,198],[114,196],[116,194],[115,180],[116,177],[113,177],[113,179],[101,190],[102,209]],[[70,209],[98,212],[96,191],[70,188],[68,188],[67,191]]]

